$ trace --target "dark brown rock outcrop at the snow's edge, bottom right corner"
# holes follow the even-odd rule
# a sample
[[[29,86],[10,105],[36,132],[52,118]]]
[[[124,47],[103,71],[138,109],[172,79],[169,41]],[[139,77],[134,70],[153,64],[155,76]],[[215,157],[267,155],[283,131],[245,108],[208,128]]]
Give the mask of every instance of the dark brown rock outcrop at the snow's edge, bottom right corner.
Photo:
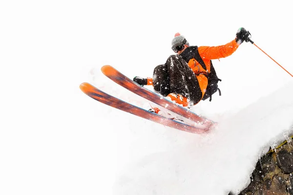
[[[251,183],[239,195],[293,195],[293,147],[286,143],[257,162]]]

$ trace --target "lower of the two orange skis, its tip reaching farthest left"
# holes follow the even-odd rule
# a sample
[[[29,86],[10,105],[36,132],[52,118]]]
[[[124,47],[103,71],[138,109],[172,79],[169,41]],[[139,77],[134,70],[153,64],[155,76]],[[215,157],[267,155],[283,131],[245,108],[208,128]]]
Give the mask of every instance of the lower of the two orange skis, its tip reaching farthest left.
[[[156,123],[160,123],[160,124],[167,126],[167,127],[170,127],[170,128],[174,128],[177,130],[183,130],[183,131],[187,131],[187,132],[191,132],[191,133],[198,133],[198,134],[206,133],[209,130],[209,128],[207,128],[207,127],[201,128],[201,127],[190,126],[190,125],[166,118],[166,117],[161,116],[159,114],[156,114],[154,112],[147,111],[143,108],[139,108],[139,107],[134,106],[132,104],[129,104],[123,100],[120,100],[114,96],[111,96],[111,95],[105,93],[104,91],[92,86],[89,83],[82,83],[80,85],[80,88],[86,95],[88,95],[89,97],[91,97],[91,98],[93,98],[93,99],[95,99],[105,105],[126,111],[128,113],[134,114],[136,116],[140,116],[142,118],[145,118],[147,120],[150,120],[150,121],[153,121]],[[197,125],[199,125],[199,124],[197,124]]]

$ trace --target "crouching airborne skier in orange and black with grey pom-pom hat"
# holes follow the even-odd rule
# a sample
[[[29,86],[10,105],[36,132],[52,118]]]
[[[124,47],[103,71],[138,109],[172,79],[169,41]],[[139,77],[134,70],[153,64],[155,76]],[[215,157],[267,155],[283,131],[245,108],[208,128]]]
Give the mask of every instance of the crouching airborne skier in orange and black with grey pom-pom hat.
[[[207,91],[211,87],[209,78],[215,74],[211,60],[230,56],[241,43],[248,42],[249,35],[245,28],[239,28],[236,38],[227,44],[197,47],[189,46],[185,37],[176,33],[171,44],[177,54],[171,55],[164,65],[156,66],[152,79],[134,77],[133,81],[142,86],[153,85],[157,93],[183,107],[190,107],[217,90]]]

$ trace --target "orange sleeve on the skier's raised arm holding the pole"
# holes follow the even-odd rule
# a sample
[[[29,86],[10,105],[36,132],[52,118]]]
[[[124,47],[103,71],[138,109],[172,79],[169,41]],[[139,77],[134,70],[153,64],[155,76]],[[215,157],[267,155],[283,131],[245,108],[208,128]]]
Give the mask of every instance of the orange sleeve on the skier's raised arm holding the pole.
[[[198,52],[203,59],[214,60],[230,56],[238,46],[239,44],[233,40],[230,43],[219,46],[200,46],[198,47]]]

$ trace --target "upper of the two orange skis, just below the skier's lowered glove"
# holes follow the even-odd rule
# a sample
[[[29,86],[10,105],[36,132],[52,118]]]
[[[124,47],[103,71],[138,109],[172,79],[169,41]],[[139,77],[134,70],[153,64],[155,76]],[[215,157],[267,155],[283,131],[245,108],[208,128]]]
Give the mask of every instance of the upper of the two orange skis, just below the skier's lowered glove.
[[[205,124],[207,127],[212,126],[215,122],[206,119],[204,117],[198,116],[197,114],[189,111],[186,108],[183,108],[181,106],[178,106],[177,104],[173,103],[172,101],[169,101],[162,97],[161,95],[154,93],[153,91],[150,91],[146,89],[145,87],[142,87],[126,77],[124,74],[116,70],[114,67],[110,65],[104,65],[101,68],[102,72],[107,76],[109,79],[114,81],[115,83],[119,84],[122,87],[125,87],[129,91],[161,106],[164,108],[167,108],[168,110],[175,112],[185,118],[188,118],[196,123]]]

